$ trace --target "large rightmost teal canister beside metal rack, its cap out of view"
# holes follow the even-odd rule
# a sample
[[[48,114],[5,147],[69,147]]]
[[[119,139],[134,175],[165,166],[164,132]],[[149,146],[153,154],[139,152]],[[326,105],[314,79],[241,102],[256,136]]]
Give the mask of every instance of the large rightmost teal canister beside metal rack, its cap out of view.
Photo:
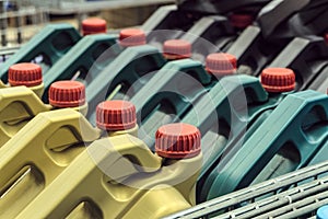
[[[315,91],[289,94],[243,148],[212,171],[208,198],[307,165],[327,139],[327,101]]]

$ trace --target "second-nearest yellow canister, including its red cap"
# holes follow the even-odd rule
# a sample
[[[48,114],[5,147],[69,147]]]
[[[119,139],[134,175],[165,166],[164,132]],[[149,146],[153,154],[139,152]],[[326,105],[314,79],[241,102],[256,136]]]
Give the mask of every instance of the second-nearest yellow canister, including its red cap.
[[[134,105],[101,103],[97,126],[72,108],[39,113],[0,148],[0,218],[15,217],[102,134],[137,135]]]

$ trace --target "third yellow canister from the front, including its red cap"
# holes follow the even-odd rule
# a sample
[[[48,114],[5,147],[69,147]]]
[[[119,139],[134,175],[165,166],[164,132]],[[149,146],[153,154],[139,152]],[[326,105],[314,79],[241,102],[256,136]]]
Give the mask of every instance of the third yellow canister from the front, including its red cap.
[[[12,138],[34,116],[62,107],[72,107],[86,114],[84,84],[77,81],[58,81],[49,89],[49,104],[26,87],[0,89],[0,147]]]

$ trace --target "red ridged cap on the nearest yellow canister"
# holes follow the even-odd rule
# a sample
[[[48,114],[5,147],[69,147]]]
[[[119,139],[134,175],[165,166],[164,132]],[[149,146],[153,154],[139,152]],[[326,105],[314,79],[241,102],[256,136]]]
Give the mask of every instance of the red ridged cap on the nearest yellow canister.
[[[163,158],[192,158],[200,153],[200,131],[189,124],[168,124],[156,131],[156,153]]]

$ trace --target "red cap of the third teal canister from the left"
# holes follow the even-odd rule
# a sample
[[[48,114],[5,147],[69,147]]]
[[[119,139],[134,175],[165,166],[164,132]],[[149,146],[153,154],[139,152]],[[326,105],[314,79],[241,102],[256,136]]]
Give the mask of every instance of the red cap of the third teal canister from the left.
[[[163,54],[167,59],[183,59],[191,57],[191,44],[183,39],[164,42]]]

